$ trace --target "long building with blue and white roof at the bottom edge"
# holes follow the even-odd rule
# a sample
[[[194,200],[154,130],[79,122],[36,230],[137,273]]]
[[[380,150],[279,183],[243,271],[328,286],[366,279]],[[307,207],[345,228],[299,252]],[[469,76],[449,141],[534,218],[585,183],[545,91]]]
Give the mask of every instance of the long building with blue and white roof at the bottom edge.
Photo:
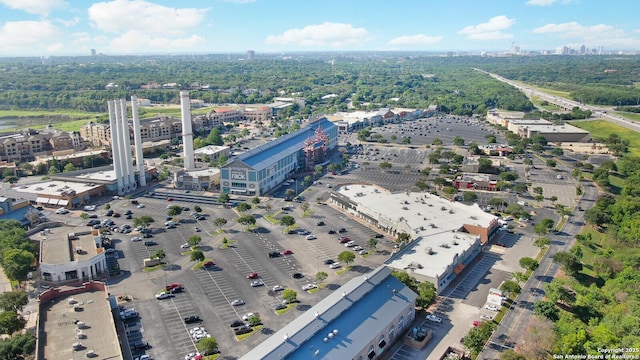
[[[410,328],[417,297],[380,266],[344,284],[241,360],[377,359]]]

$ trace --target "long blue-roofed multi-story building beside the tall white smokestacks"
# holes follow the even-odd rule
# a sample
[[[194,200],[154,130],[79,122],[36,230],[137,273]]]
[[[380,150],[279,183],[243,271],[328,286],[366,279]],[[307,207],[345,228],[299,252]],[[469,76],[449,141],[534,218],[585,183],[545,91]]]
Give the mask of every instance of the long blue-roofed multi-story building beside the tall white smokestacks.
[[[338,145],[338,128],[326,118],[279,137],[267,144],[230,160],[220,169],[222,192],[235,195],[263,195],[279,186],[300,169],[308,167],[305,146],[316,137],[320,128],[326,140],[314,142],[326,151]],[[317,160],[317,159],[315,159]]]

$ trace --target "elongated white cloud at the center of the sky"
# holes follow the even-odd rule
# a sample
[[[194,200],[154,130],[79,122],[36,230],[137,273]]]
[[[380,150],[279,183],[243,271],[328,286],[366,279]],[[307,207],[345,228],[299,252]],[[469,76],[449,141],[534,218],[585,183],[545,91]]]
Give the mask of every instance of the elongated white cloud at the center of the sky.
[[[267,44],[340,48],[369,41],[369,32],[351,24],[324,22],[302,29],[290,29],[281,35],[269,35]]]

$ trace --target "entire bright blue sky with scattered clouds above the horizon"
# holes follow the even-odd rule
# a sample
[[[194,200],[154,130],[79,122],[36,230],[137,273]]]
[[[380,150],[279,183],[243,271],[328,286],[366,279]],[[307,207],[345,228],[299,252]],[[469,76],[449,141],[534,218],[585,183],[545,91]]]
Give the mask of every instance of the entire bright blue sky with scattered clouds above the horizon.
[[[0,0],[0,56],[640,50],[640,1]]]

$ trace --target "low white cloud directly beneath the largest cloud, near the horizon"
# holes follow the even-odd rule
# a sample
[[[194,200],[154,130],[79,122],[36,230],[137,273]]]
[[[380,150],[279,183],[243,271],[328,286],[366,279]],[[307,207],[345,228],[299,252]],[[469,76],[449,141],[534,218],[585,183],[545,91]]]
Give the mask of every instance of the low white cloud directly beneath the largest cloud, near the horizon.
[[[149,34],[131,30],[109,43],[109,52],[114,54],[123,53],[149,53],[149,52],[180,52],[193,50],[205,39],[198,35],[191,35],[184,38],[168,38],[162,36],[151,36]]]

